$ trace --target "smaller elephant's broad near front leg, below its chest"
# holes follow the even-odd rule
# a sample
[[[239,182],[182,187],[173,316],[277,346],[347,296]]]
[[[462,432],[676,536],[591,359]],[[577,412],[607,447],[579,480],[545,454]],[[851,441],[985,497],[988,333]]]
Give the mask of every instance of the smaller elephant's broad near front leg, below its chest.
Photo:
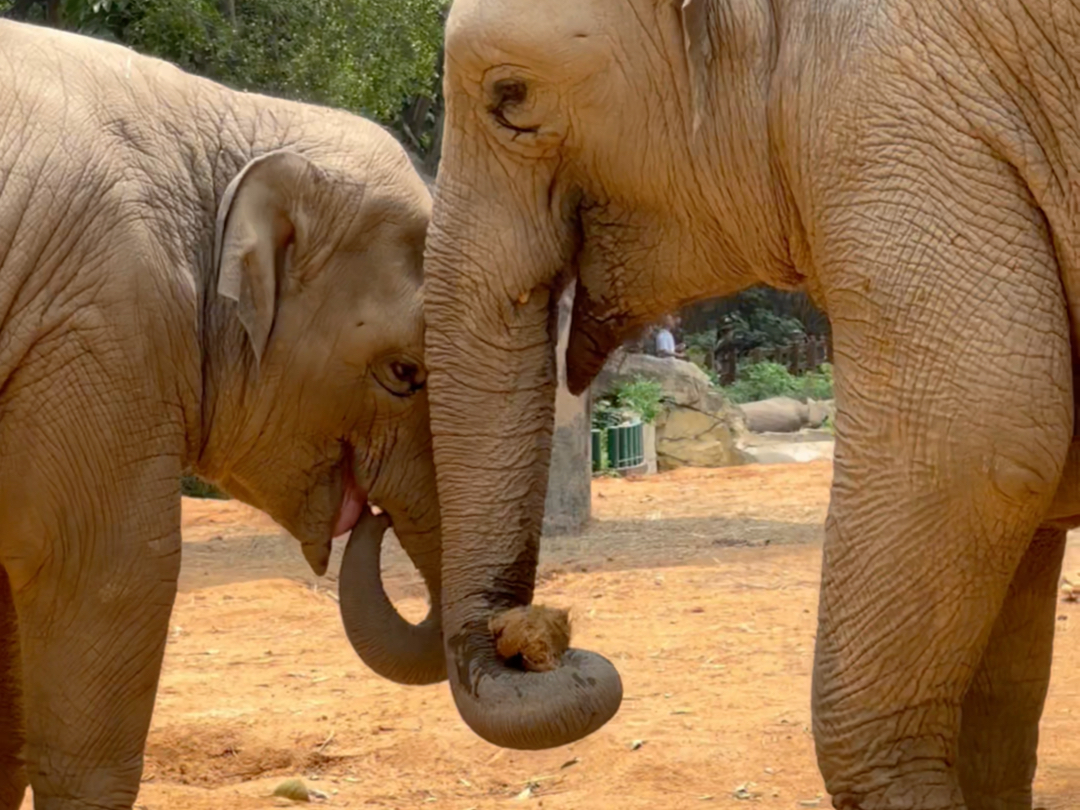
[[[179,573],[178,465],[168,476],[167,492],[138,476],[98,490],[113,522],[70,519],[78,534],[50,542],[63,553],[12,578],[35,810],[130,810],[138,794]]]

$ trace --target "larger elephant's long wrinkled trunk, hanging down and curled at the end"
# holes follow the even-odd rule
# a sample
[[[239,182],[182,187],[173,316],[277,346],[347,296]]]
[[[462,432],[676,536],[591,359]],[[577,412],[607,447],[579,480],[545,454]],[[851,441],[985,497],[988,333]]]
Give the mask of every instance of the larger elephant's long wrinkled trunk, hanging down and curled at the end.
[[[494,618],[532,599],[554,421],[554,300],[543,286],[507,288],[514,281],[499,268],[512,262],[462,234],[470,220],[456,208],[436,204],[424,303],[447,671],[461,717],[482,738],[555,747],[603,726],[622,684],[607,660],[575,649],[556,669],[526,672],[500,658],[491,631]],[[461,220],[445,227],[446,217]]]

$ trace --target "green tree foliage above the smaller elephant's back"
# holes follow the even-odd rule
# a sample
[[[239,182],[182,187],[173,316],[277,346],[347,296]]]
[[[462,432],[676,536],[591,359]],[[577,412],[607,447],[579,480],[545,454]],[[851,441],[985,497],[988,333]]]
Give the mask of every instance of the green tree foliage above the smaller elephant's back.
[[[0,0],[11,12],[14,0]],[[433,97],[448,0],[60,0],[60,24],[239,90],[393,125]],[[2,9],[3,6],[0,6]],[[33,3],[26,18],[40,21]]]

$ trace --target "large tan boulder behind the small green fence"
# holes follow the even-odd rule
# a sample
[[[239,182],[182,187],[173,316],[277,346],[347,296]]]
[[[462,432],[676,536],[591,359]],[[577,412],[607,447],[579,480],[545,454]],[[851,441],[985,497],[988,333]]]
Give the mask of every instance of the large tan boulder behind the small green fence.
[[[742,449],[742,413],[693,363],[674,357],[616,352],[593,382],[594,395],[638,377],[656,380],[665,404],[657,419],[657,467],[731,467],[753,459]]]

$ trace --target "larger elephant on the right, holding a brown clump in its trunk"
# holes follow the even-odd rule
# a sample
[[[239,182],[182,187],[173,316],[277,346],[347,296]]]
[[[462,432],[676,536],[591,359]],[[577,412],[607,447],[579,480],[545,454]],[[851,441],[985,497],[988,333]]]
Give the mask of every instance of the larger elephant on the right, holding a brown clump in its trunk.
[[[567,697],[572,670],[500,667],[481,632],[532,594],[559,289],[581,391],[662,312],[804,287],[835,339],[812,698],[834,806],[1029,810],[1080,523],[1080,8],[457,0],[446,53],[424,308],[473,728],[557,745],[618,702],[606,672]]]

